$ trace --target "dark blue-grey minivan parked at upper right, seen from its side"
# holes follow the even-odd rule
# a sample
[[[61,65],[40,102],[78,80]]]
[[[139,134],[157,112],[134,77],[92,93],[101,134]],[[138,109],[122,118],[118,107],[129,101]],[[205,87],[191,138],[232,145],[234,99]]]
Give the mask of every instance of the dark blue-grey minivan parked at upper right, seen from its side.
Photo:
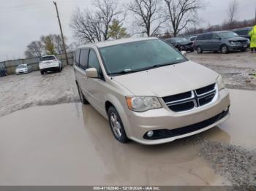
[[[203,51],[245,51],[248,47],[248,40],[238,36],[233,31],[214,31],[206,34],[199,34],[195,40],[197,53]]]

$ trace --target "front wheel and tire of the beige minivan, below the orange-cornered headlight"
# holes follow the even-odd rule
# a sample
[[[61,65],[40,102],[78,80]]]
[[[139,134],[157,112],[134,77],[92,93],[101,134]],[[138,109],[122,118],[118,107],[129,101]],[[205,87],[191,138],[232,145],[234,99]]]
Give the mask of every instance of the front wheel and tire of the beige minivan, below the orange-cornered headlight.
[[[116,108],[110,106],[108,109],[108,122],[115,139],[121,143],[129,142],[127,133],[125,133],[123,122],[119,116]]]

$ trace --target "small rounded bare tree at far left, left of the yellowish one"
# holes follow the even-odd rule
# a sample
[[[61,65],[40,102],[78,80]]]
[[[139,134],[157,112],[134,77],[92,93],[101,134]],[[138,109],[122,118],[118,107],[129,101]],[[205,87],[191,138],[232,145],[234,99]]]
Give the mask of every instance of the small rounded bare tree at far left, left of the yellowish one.
[[[44,45],[41,41],[31,42],[25,51],[26,58],[37,58],[44,54]]]

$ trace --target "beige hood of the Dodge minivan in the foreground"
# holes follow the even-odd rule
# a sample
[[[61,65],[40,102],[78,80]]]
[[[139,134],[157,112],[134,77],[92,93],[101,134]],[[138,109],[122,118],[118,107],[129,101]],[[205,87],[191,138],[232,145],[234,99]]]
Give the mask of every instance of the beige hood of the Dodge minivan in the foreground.
[[[218,76],[205,66],[187,61],[113,79],[134,95],[165,97],[211,85]]]

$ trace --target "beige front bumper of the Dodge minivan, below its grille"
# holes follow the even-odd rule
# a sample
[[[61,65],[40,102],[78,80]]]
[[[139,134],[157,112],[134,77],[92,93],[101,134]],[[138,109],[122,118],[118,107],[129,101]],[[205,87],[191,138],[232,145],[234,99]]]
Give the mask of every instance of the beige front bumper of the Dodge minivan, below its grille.
[[[124,122],[124,127],[129,139],[137,141],[140,144],[163,144],[213,128],[227,120],[230,116],[228,111],[224,114],[225,110],[230,106],[230,98],[227,89],[219,91],[217,101],[214,101],[214,103],[192,111],[178,113],[171,111],[163,103],[162,106],[162,109],[152,109],[147,112],[128,112],[127,116],[124,117],[127,118]],[[223,114],[223,116],[211,120],[211,122],[203,123],[218,114]],[[195,128],[197,123],[201,124],[200,128]],[[145,137],[149,130],[169,130],[171,132],[171,130],[174,129],[179,131],[178,128],[180,130],[181,128],[187,128],[187,130],[184,131],[185,133],[179,133],[176,134],[176,136],[169,136],[162,139],[150,140]],[[191,128],[191,130],[189,130],[189,128]]]

